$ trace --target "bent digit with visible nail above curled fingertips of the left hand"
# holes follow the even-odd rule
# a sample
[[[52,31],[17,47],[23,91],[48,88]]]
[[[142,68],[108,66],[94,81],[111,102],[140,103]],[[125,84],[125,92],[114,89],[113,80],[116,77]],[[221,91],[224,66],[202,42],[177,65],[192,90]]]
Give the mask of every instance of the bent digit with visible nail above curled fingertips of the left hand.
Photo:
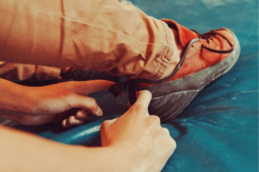
[[[85,97],[79,94],[73,94],[68,101],[68,105],[71,108],[81,108],[92,116],[102,116],[102,109],[99,107],[95,99],[91,97]]]

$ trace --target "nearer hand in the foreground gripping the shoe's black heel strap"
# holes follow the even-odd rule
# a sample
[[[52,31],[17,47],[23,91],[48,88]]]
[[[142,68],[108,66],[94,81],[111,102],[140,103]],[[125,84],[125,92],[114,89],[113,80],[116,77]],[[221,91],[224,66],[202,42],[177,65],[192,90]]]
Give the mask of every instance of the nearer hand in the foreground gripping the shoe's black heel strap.
[[[125,114],[102,123],[102,146],[123,154],[128,171],[161,171],[176,142],[168,129],[161,127],[159,117],[148,114],[151,93],[139,91],[136,97],[136,103]]]

